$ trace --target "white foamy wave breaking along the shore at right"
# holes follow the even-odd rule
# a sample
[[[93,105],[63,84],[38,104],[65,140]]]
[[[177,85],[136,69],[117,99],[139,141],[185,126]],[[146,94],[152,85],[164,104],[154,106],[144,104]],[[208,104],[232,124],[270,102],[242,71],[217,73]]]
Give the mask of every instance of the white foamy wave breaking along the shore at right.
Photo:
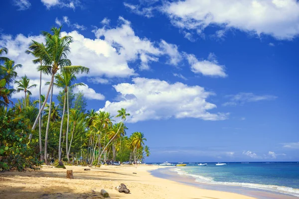
[[[212,184],[212,185],[227,185],[227,186],[239,186],[253,189],[260,189],[272,192],[279,192],[283,194],[289,194],[292,196],[299,197],[299,189],[294,189],[291,187],[277,186],[277,185],[263,185],[263,184],[253,184],[253,183],[236,183],[236,182],[218,182],[214,181],[211,177],[204,177],[195,174],[190,174],[180,169],[174,169],[179,175],[190,176],[195,178],[195,182]]]

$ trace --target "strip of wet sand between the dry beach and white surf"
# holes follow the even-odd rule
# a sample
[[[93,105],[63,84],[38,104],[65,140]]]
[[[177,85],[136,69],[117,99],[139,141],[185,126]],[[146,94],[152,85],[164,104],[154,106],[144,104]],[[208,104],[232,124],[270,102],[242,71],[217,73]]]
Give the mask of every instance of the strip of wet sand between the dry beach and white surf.
[[[257,199],[282,199],[282,198],[298,199],[298,196],[293,196],[291,194],[275,192],[271,190],[243,187],[237,185],[224,185],[224,184],[221,185],[221,184],[209,184],[204,182],[198,182],[196,181],[196,177],[192,175],[180,174],[180,172],[175,169],[177,168],[176,167],[158,168],[157,170],[152,170],[150,173],[151,175],[157,178],[168,179],[189,186],[194,186],[200,189],[236,193],[248,197],[254,197]]]

